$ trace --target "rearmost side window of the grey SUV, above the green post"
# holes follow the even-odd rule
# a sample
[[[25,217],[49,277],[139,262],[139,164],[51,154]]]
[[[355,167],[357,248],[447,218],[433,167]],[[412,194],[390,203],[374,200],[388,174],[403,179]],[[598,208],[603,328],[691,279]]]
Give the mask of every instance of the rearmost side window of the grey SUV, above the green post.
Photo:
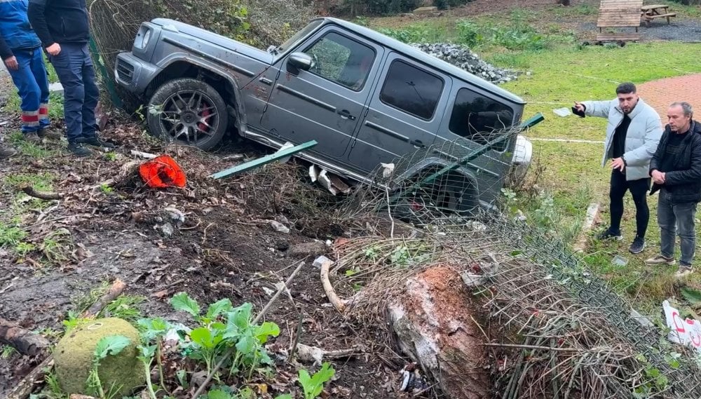
[[[455,98],[448,128],[456,135],[486,144],[496,139],[499,130],[512,126],[513,121],[514,111],[507,105],[461,88]],[[495,149],[503,151],[506,144],[502,142]]]

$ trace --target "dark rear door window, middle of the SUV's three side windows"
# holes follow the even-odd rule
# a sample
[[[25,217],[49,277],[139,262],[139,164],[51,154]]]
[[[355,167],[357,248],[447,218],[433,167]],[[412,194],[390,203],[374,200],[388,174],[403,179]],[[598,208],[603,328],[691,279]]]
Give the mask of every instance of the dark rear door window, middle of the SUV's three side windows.
[[[387,72],[380,100],[428,121],[435,113],[443,84],[440,77],[395,60]]]

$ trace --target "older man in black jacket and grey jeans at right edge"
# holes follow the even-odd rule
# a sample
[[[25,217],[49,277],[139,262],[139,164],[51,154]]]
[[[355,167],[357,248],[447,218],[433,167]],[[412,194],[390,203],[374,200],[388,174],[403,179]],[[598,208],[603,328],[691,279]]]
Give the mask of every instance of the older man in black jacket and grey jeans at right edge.
[[[688,102],[675,102],[667,111],[669,124],[650,162],[653,189],[660,191],[658,224],[660,255],[646,264],[674,264],[674,241],[679,231],[681,259],[677,277],[691,273],[696,247],[696,205],[701,201],[701,123],[693,120]]]

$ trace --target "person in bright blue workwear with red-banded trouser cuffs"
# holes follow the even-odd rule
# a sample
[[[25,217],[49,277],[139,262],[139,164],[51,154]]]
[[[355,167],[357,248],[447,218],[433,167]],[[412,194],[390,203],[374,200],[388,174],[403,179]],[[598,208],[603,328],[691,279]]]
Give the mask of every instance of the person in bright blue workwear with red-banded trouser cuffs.
[[[0,1],[0,58],[10,72],[22,101],[22,135],[39,143],[45,135],[60,138],[48,130],[48,77],[41,42],[27,19],[27,0]],[[0,158],[14,151],[0,149]]]

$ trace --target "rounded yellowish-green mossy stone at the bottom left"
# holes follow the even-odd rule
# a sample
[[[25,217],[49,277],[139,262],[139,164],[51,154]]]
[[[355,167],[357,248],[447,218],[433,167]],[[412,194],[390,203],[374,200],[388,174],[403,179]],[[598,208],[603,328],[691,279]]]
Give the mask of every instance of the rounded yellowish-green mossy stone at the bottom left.
[[[75,327],[56,345],[53,352],[55,372],[63,391],[68,394],[86,394],[86,381],[93,367],[95,346],[103,337],[123,335],[130,344],[116,356],[100,360],[97,374],[104,389],[121,386],[118,398],[130,395],[135,388],[144,386],[144,365],[137,359],[139,332],[120,318],[93,320]]]

